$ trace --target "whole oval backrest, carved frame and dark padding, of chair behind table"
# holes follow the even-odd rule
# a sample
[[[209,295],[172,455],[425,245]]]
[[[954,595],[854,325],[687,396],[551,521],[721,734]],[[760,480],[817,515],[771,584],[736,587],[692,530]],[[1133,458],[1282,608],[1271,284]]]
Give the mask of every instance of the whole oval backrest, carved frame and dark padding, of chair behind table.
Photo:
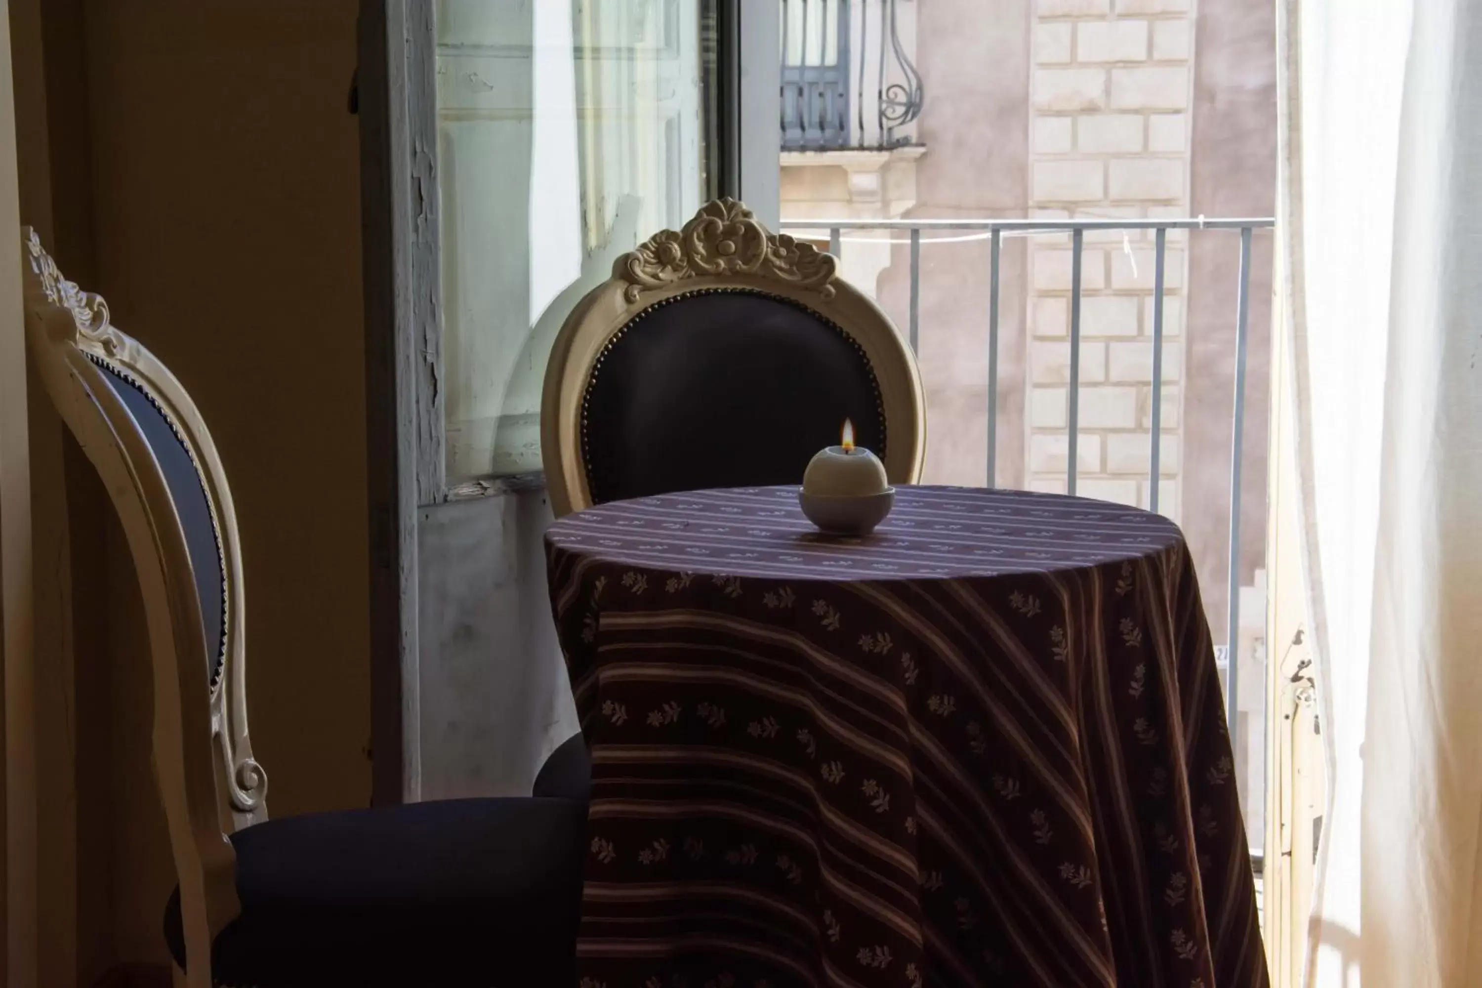
[[[622,255],[572,310],[541,397],[557,517],[619,498],[800,483],[848,418],[892,483],[920,478],[916,360],[836,259],[707,203]]]

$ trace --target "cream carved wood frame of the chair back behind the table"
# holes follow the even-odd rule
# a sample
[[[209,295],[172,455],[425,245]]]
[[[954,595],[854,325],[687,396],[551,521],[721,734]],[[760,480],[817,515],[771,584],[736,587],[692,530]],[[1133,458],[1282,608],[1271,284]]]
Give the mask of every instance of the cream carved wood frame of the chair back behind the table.
[[[837,277],[837,259],[811,243],[766,230],[744,203],[717,198],[680,231],[655,234],[617,259],[612,277],[566,317],[541,394],[541,458],[556,517],[591,507],[581,456],[581,407],[608,341],[639,313],[704,289],[748,289],[788,299],[843,329],[864,350],[880,385],[891,483],[920,480],[926,398],[916,357],[891,317]]]

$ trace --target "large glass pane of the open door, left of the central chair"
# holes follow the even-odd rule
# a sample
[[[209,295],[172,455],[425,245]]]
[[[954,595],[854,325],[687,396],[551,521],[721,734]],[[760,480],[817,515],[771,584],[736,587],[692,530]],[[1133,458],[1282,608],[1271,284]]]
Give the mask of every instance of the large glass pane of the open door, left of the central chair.
[[[449,483],[541,468],[566,314],[713,193],[713,6],[439,1]]]

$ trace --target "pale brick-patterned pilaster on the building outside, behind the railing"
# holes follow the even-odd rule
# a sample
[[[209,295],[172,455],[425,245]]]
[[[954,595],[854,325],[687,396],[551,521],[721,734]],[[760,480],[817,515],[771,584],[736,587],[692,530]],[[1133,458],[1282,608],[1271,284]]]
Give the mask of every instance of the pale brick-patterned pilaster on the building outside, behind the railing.
[[[1189,213],[1193,0],[1037,0],[1031,215]],[[1186,234],[1169,231],[1159,510],[1178,515]],[[1070,237],[1036,237],[1029,298],[1027,474],[1066,489]],[[1086,234],[1077,493],[1149,504],[1153,234]]]

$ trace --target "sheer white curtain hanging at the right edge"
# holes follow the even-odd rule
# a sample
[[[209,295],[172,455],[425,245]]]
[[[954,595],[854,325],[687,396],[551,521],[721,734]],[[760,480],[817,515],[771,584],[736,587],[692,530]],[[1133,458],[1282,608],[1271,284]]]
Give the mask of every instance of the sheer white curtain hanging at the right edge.
[[[1482,985],[1482,0],[1280,0],[1310,988]]]

